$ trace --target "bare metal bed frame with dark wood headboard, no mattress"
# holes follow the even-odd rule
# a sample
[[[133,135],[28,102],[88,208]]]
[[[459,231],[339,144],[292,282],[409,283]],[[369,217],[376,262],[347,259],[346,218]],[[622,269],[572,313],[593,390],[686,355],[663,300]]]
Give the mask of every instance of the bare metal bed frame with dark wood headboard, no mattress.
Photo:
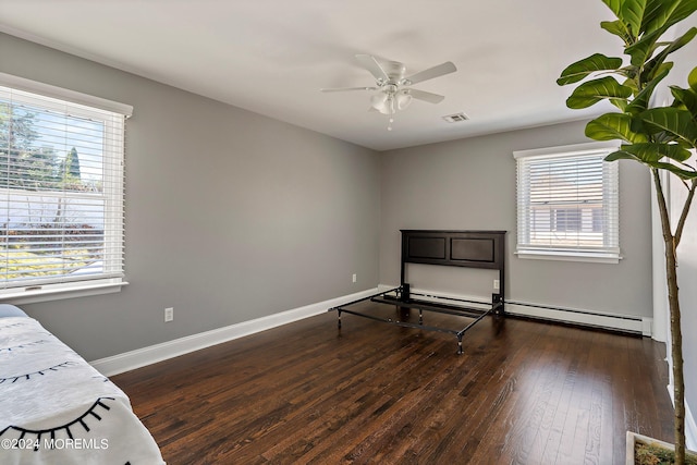
[[[400,286],[329,310],[338,313],[339,328],[342,325],[342,314],[350,314],[405,328],[454,334],[457,339],[457,354],[462,354],[462,340],[469,329],[488,315],[502,317],[505,313],[506,231],[401,230],[401,233]],[[497,270],[499,279],[494,284],[498,285],[493,286],[491,301],[488,303],[417,293],[412,291],[412,285],[406,280],[409,264]],[[395,306],[398,311],[394,317],[379,316],[365,306],[357,305],[366,301]],[[401,313],[408,313],[409,309],[418,310],[417,322],[402,318]],[[431,311],[462,317],[462,325],[456,328],[431,326],[424,316]]]

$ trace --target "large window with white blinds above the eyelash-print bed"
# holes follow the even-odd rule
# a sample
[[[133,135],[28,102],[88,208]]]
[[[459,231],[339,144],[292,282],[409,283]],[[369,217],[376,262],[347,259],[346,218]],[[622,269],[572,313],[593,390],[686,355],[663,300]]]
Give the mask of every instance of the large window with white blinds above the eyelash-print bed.
[[[120,289],[132,108],[0,74],[0,298]]]

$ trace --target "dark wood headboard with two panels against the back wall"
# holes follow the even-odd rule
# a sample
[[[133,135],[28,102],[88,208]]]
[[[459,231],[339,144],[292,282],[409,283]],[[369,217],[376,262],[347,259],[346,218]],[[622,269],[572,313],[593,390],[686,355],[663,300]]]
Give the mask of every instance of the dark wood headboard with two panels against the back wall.
[[[406,264],[499,270],[499,296],[503,302],[506,231],[402,231],[401,283]]]

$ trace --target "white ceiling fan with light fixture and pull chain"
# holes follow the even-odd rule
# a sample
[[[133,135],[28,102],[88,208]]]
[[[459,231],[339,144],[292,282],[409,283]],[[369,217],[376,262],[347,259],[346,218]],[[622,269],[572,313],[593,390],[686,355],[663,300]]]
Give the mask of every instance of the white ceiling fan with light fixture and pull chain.
[[[323,93],[345,91],[345,90],[378,90],[370,97],[370,109],[377,110],[390,117],[388,131],[392,131],[394,113],[404,110],[412,102],[412,99],[424,100],[429,103],[438,103],[445,97],[426,90],[414,89],[411,86],[420,82],[440,77],[457,71],[455,65],[447,61],[436,66],[429,68],[418,73],[406,76],[406,66],[399,61],[386,61],[380,63],[371,54],[356,54],[356,60],[372,74],[375,86],[370,87],[335,87],[322,88]]]

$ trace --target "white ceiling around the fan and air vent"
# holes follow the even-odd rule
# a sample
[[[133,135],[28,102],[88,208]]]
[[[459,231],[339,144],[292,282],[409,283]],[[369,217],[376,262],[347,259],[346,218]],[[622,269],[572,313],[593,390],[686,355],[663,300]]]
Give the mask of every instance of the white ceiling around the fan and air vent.
[[[600,0],[0,0],[2,32],[377,150],[585,118],[555,78],[620,52],[610,19]],[[458,71],[388,132],[370,93],[319,91],[375,84],[356,53]]]

